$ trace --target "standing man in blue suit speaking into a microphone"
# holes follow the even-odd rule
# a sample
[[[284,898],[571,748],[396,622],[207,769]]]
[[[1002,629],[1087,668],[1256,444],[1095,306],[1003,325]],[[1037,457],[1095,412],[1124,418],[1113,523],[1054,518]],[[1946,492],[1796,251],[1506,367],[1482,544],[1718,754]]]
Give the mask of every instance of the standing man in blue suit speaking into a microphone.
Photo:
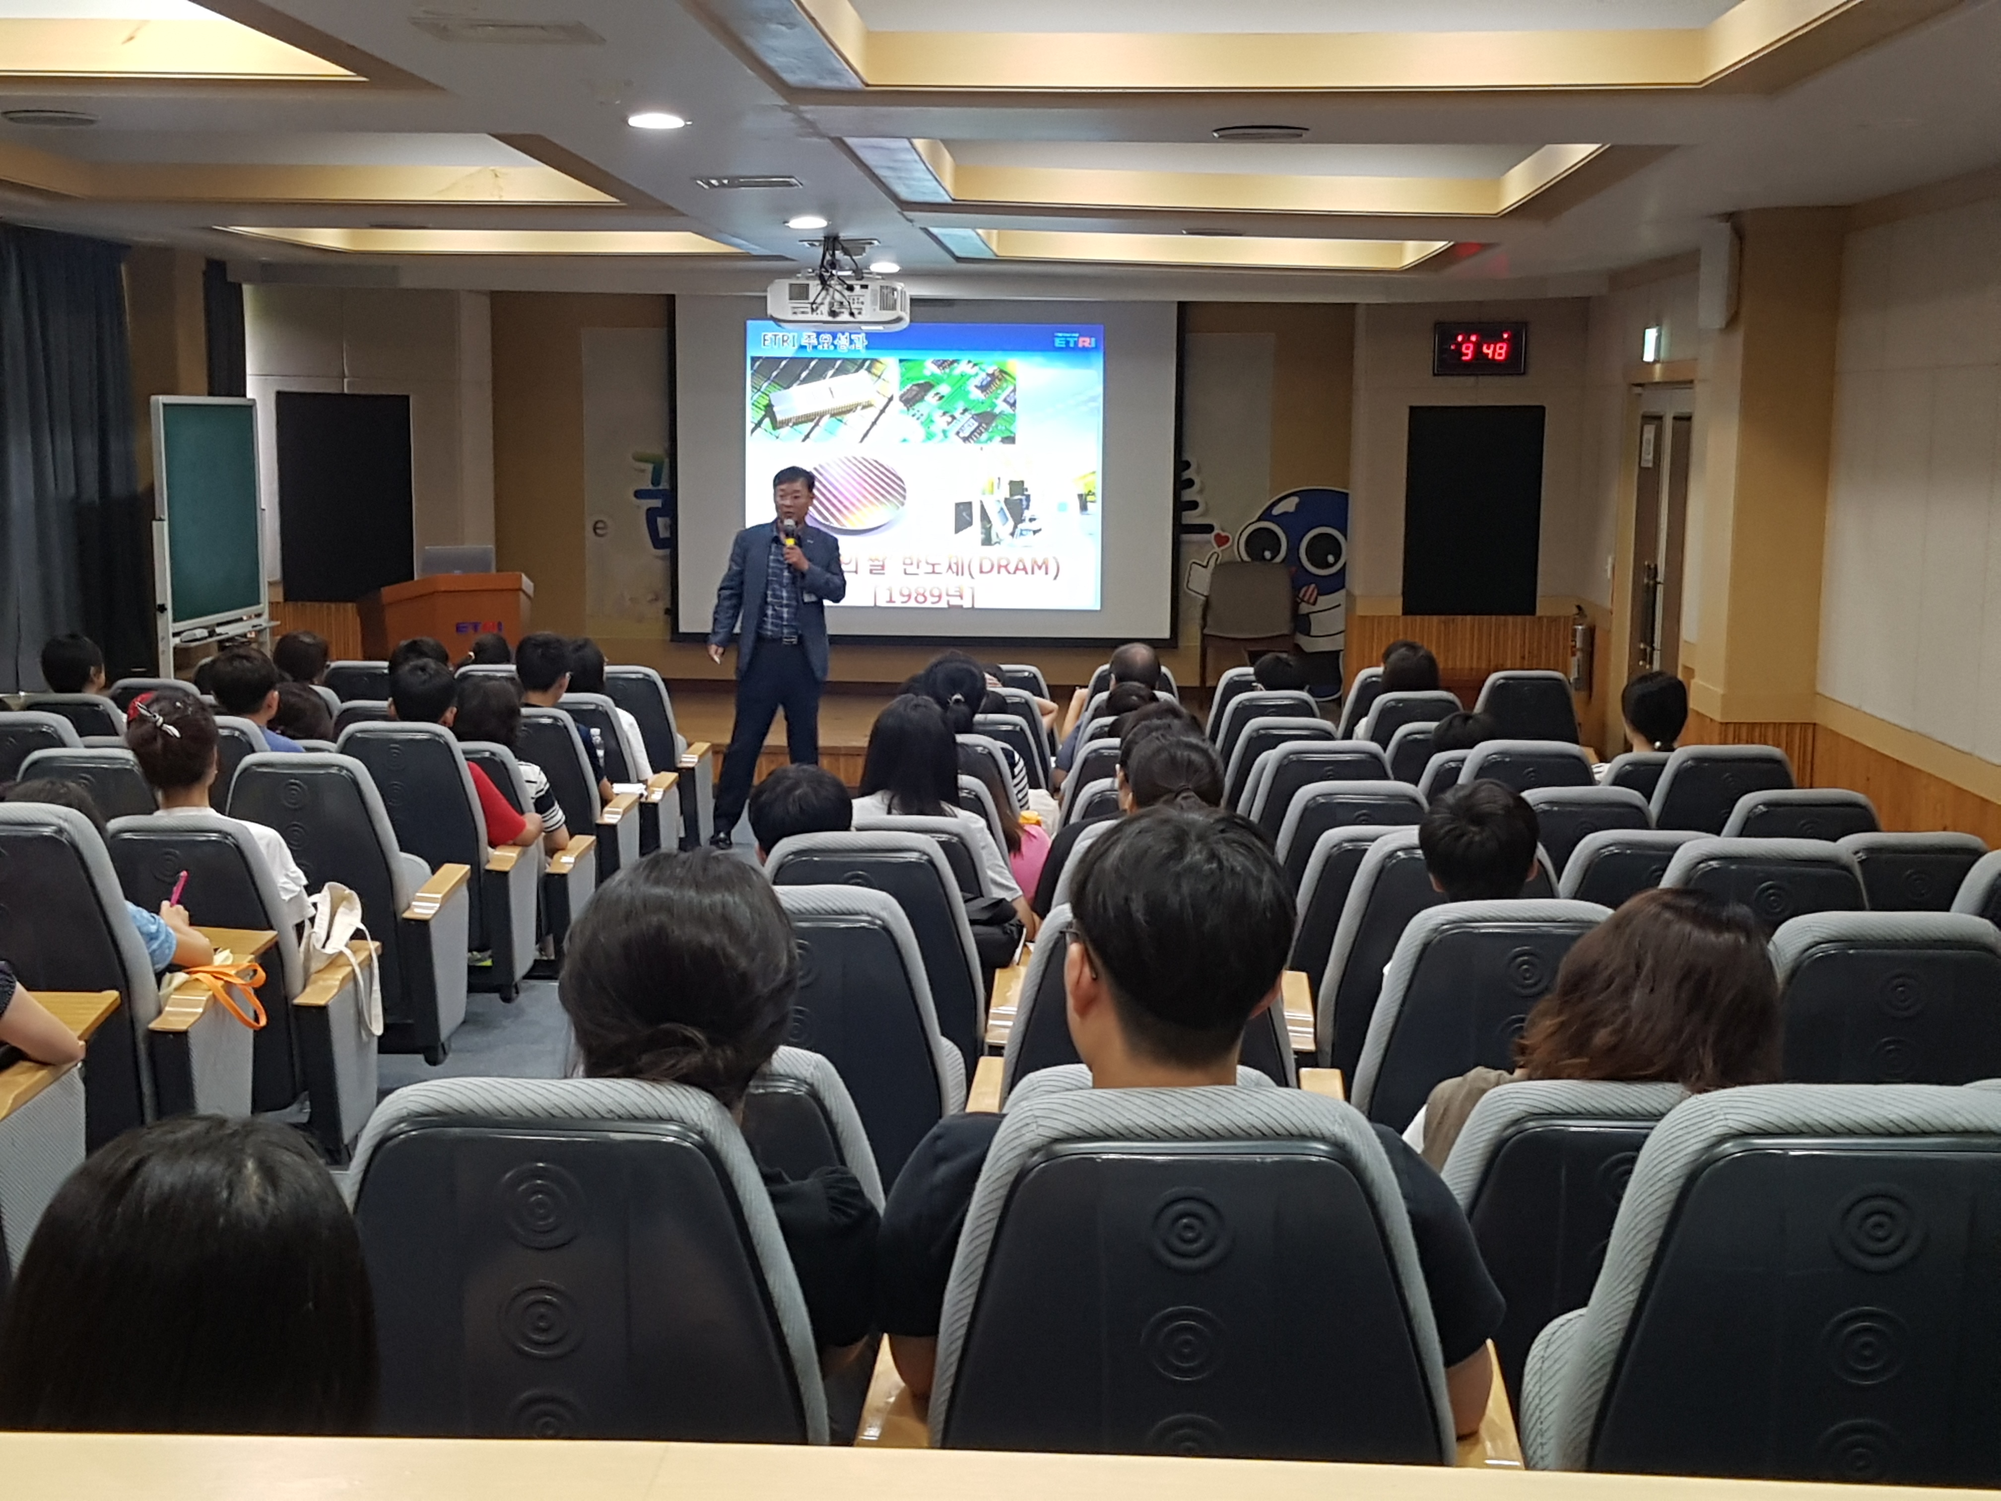
[[[730,546],[730,566],[716,586],[716,618],[708,630],[708,660],[720,662],[736,634],[736,728],[722,757],[716,789],[716,833],[708,843],[730,847],[730,831],[750,799],[756,755],[772,716],[784,708],[784,746],[794,765],[820,761],[820,684],[826,682],[826,602],[848,592],[840,572],[840,542],[806,524],[812,474],[780,468],[770,476],[776,520],[744,526]]]

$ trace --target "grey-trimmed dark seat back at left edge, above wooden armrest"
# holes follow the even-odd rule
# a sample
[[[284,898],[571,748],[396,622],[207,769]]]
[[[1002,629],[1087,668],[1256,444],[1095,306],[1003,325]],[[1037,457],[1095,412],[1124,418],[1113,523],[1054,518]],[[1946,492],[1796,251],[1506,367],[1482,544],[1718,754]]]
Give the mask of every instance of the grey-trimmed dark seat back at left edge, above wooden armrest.
[[[96,1149],[150,1121],[146,1027],[160,991],[104,841],[74,809],[0,803],[0,955],[30,991],[118,991],[90,1039],[84,1135]]]

